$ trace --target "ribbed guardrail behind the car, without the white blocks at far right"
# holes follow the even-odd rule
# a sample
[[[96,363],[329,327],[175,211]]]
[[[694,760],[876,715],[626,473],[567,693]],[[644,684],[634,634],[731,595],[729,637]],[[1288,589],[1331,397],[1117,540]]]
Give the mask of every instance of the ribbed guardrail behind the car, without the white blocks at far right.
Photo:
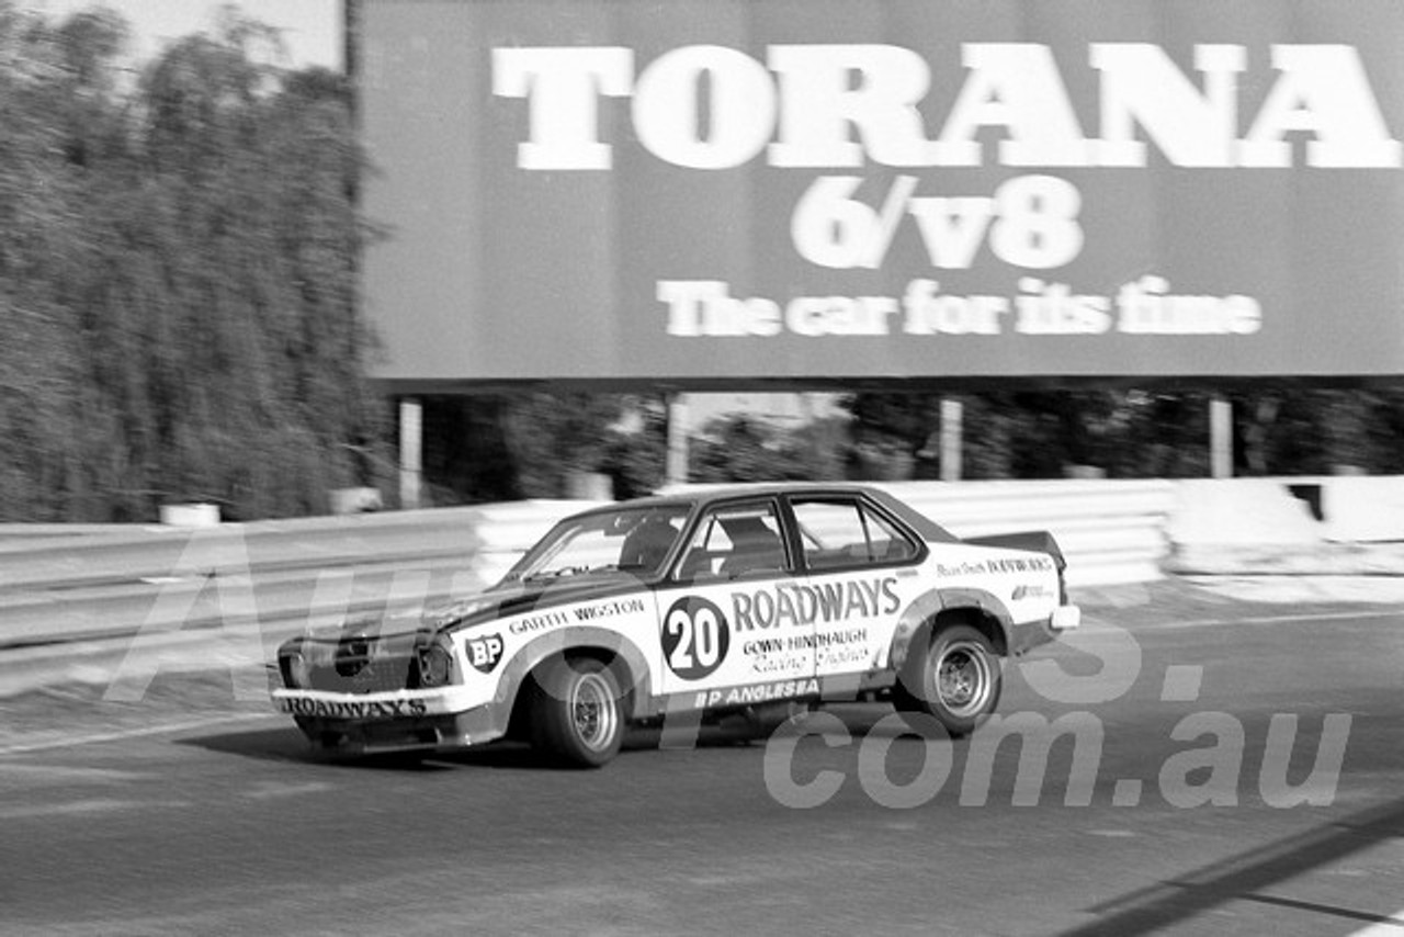
[[[958,535],[1053,531],[1073,584],[1153,579],[1167,552],[1161,531],[1174,487],[1164,482],[885,487]],[[594,503],[0,539],[0,648],[219,628],[229,614],[227,596],[247,596],[236,598],[240,615],[293,625],[396,603],[442,601],[490,584],[553,523]]]

